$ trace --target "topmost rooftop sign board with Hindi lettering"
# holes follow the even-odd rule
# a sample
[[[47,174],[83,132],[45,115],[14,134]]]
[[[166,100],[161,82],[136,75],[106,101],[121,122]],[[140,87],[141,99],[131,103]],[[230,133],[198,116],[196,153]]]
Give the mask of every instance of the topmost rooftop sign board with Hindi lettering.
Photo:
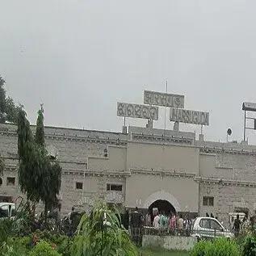
[[[156,106],[184,108],[184,96],[145,90],[144,103]]]

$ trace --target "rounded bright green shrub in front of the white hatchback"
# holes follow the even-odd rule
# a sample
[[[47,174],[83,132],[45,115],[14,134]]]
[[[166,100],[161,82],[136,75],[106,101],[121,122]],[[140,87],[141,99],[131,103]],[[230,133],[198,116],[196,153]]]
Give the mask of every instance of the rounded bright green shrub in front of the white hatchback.
[[[212,242],[199,241],[191,251],[191,256],[240,256],[240,250],[236,242],[218,238]]]

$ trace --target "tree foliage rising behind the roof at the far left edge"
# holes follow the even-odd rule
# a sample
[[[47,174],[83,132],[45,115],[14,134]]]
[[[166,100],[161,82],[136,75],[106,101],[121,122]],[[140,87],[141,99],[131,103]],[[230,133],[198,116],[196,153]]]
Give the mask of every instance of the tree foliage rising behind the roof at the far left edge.
[[[14,103],[10,97],[6,98],[6,90],[4,89],[5,81],[0,76],[0,123],[6,121],[17,123],[19,107]]]

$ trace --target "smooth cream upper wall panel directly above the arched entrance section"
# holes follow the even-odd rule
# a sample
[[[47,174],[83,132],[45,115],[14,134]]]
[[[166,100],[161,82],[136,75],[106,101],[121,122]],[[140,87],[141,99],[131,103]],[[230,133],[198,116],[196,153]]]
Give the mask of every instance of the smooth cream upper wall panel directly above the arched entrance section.
[[[153,169],[183,171],[198,174],[199,149],[149,143],[128,143],[128,169]]]

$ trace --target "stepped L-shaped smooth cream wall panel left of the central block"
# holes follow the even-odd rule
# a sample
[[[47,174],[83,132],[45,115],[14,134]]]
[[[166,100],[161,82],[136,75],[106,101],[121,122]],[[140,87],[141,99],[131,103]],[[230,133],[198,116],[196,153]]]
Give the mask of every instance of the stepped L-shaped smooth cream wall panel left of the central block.
[[[108,157],[88,157],[88,169],[126,170],[126,153],[126,148],[109,146]]]

